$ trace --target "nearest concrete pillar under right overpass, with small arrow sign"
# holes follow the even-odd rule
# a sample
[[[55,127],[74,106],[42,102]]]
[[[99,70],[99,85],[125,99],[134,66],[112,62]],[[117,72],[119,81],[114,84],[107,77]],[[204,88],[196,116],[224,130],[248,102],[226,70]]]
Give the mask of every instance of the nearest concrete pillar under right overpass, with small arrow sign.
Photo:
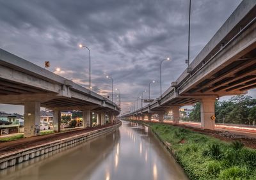
[[[200,100],[201,103],[201,128],[207,130],[215,130],[215,98],[205,98]]]

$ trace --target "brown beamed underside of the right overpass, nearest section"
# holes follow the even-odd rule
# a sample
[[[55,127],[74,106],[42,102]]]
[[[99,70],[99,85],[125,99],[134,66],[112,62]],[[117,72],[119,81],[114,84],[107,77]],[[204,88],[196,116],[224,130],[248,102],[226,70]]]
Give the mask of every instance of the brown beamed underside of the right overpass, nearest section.
[[[183,94],[243,94],[255,87],[256,49],[253,49],[230,64],[212,71],[202,82],[195,84]]]

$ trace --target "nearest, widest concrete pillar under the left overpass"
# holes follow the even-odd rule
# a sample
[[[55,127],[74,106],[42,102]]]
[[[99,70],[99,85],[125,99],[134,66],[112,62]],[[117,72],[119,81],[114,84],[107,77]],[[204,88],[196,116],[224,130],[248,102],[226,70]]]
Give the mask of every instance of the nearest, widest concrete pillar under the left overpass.
[[[40,102],[24,103],[24,137],[40,134]]]

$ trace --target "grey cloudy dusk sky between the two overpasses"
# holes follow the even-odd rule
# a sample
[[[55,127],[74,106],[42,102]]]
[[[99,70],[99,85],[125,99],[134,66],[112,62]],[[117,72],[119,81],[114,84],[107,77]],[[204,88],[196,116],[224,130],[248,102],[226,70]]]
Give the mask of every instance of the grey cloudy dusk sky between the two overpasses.
[[[241,0],[194,0],[191,4],[191,59],[211,39]],[[126,111],[156,80],[150,97],[159,96],[185,70],[188,46],[188,0],[0,0],[0,48],[88,87],[91,50],[92,88],[111,94],[110,75],[122,93]],[[148,93],[144,93],[148,96]],[[0,111],[18,111],[0,105]]]

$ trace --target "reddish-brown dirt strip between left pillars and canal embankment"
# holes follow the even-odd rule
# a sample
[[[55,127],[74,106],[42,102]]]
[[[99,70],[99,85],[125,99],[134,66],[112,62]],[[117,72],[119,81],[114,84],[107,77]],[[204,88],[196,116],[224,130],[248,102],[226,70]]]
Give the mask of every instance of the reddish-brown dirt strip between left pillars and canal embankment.
[[[11,153],[13,151],[20,150],[20,149],[52,142],[54,140],[61,140],[67,137],[72,137],[74,135],[83,134],[89,131],[99,130],[101,128],[106,128],[108,126],[113,126],[113,124],[108,124],[108,125],[98,126],[93,128],[84,128],[84,129],[61,132],[61,133],[51,133],[48,135],[29,137],[29,138],[24,138],[19,140],[13,140],[10,142],[0,142],[0,156],[6,153]]]

